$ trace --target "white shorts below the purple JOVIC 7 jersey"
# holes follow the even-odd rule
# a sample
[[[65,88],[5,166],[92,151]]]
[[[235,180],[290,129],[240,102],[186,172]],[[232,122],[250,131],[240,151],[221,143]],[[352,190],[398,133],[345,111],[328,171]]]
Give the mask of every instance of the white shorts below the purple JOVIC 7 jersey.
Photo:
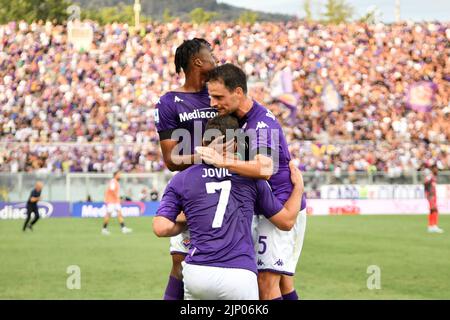
[[[250,270],[181,264],[184,300],[259,300],[258,280]]]

